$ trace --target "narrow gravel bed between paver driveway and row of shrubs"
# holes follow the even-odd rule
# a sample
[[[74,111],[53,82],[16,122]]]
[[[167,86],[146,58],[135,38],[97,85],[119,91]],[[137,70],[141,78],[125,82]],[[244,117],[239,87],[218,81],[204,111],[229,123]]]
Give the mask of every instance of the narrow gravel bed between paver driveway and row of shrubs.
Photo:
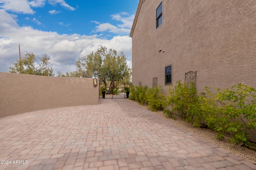
[[[140,106],[141,108],[151,111],[148,108],[148,106],[142,106],[142,105],[138,104],[138,102],[135,102],[132,100],[129,100],[129,101]],[[194,135],[202,137],[206,141],[214,143],[215,145],[217,145],[220,148],[228,150],[229,152],[243,158],[244,160],[248,160],[249,162],[256,164],[256,152],[254,150],[250,150],[250,149],[247,149],[245,147],[241,147],[241,146],[235,145],[235,144],[230,145],[230,143],[228,142],[228,140],[229,140],[228,137],[224,137],[223,140],[218,140],[218,139],[216,139],[217,133],[210,129],[194,127],[192,124],[186,123],[185,121],[181,121],[179,119],[174,120],[172,118],[165,117],[165,115],[163,114],[163,111],[151,111],[151,112],[158,115],[159,117],[165,119],[166,121],[173,123],[174,125],[182,127],[183,129],[185,129],[188,132],[193,133]]]

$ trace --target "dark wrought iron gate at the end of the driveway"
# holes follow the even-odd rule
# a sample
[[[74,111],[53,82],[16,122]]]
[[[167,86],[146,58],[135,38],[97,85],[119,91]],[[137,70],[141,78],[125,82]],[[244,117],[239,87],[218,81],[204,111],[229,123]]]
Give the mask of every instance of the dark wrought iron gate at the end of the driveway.
[[[126,92],[124,90],[125,87],[132,86],[132,83],[115,83],[114,86],[110,83],[106,84],[106,94],[105,99],[120,99],[126,98]],[[101,87],[105,87],[104,82],[100,83],[100,98],[103,98]]]

